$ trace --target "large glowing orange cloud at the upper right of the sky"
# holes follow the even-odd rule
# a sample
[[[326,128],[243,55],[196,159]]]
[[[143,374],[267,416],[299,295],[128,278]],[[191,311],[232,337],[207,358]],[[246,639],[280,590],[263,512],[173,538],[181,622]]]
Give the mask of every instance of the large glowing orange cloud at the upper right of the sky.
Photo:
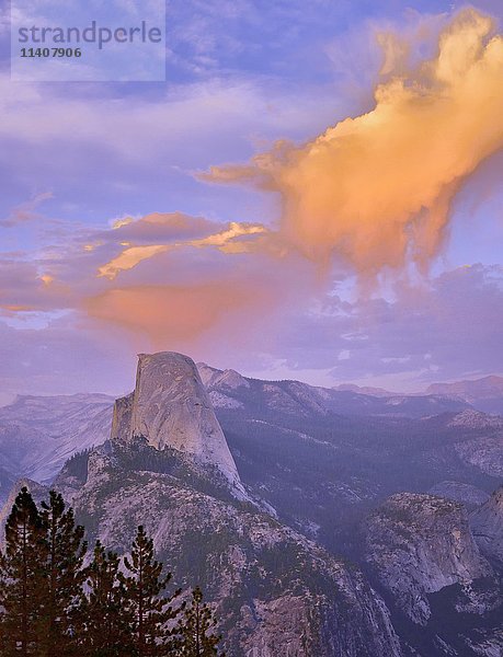
[[[202,177],[279,193],[285,241],[315,261],[336,253],[365,275],[409,258],[426,266],[457,191],[503,147],[503,39],[493,28],[465,10],[441,34],[437,56],[408,71],[398,66],[408,48],[388,35],[390,77],[371,112]]]

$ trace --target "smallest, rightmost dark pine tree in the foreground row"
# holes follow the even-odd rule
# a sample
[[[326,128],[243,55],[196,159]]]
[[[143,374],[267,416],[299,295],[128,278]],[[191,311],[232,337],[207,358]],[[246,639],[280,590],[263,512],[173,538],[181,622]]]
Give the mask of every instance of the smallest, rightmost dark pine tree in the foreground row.
[[[215,619],[199,587],[192,591],[192,602],[176,627],[178,657],[214,657],[218,655],[221,636],[215,634]],[[224,653],[220,653],[224,657]]]

